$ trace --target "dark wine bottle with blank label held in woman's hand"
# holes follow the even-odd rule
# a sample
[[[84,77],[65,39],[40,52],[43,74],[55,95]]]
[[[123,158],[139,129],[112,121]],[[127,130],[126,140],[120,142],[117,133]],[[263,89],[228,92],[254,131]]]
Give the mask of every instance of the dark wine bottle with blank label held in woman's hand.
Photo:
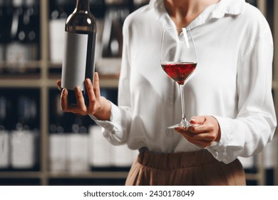
[[[76,105],[76,86],[81,88],[88,105],[84,80],[89,78],[93,82],[97,31],[96,19],[91,14],[88,0],[76,0],[76,8],[66,20],[65,31],[61,86],[68,89],[69,105]]]

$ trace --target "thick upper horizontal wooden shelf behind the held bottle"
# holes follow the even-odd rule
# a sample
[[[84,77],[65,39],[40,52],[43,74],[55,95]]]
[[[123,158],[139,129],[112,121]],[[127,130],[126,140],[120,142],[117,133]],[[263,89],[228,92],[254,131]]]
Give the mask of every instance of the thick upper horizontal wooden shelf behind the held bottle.
[[[108,60],[115,61],[115,59]],[[0,88],[40,88],[41,86],[55,88],[56,81],[61,79],[61,66],[61,63],[52,61],[26,61],[24,63],[0,61]],[[48,69],[47,77],[42,77],[41,69],[43,67]],[[54,69],[53,73],[51,69]],[[118,87],[118,73],[99,74],[101,87]]]

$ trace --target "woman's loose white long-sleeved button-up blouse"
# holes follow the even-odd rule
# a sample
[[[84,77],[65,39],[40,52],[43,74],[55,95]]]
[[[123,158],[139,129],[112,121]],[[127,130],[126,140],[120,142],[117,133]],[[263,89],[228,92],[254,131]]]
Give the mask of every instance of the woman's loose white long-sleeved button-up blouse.
[[[160,66],[163,29],[175,24],[163,0],[150,0],[125,19],[118,106],[110,121],[96,120],[111,144],[130,149],[196,151],[168,126],[182,117],[178,85]],[[215,116],[221,139],[207,149],[219,161],[252,156],[272,140],[277,124],[272,100],[273,41],[267,21],[244,0],[221,0],[187,26],[197,68],[185,83],[187,119]]]

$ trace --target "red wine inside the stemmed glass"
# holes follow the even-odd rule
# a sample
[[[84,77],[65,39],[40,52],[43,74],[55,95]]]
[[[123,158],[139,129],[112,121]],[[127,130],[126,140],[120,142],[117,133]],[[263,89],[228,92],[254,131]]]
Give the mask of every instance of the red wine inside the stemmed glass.
[[[193,62],[165,62],[161,64],[163,70],[168,76],[179,85],[185,84],[185,80],[195,70],[197,63]]]

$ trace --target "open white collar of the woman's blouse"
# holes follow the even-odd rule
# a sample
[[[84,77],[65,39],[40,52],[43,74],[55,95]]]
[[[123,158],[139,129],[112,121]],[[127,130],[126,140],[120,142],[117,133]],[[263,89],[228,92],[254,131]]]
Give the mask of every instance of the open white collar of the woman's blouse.
[[[205,24],[210,19],[220,19],[225,14],[239,15],[242,14],[244,9],[245,0],[220,0],[217,4],[213,4],[205,11],[202,12],[197,18],[192,21],[187,27],[190,29]],[[174,22],[170,19],[170,16],[165,11],[165,5],[163,0],[150,0],[149,9],[155,10],[155,16],[158,17],[158,21],[165,29],[171,29],[175,27]]]

